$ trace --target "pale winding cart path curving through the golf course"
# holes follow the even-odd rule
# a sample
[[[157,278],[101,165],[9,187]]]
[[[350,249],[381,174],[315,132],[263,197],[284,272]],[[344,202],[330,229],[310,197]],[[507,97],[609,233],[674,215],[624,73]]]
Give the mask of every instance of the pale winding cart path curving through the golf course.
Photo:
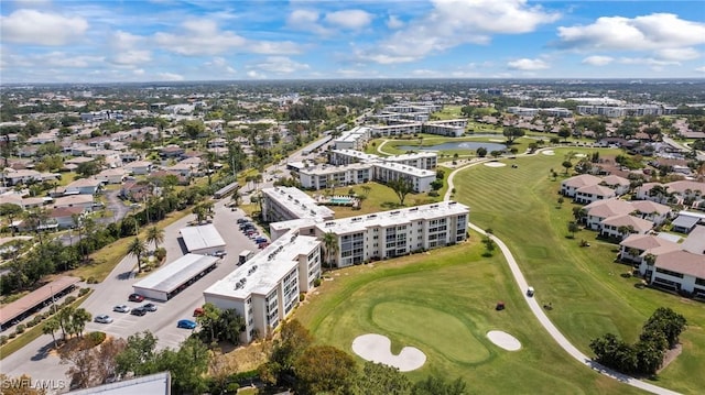
[[[485,163],[487,161],[490,160],[478,160],[475,161],[466,166],[456,168],[455,171],[453,171],[451,173],[451,175],[448,176],[448,190],[445,193],[445,196],[443,197],[444,200],[451,200],[451,195],[452,195],[452,190],[453,190],[453,178],[455,177],[455,175],[459,172],[463,171],[465,168],[471,167],[471,166],[476,166],[479,165],[481,163]],[[487,233],[485,232],[485,230],[482,230],[481,228],[479,228],[478,226],[474,224],[474,223],[468,223],[468,226],[479,232],[482,235],[486,235]],[[545,315],[545,312],[543,311],[543,308],[539,305],[539,303],[536,301],[535,298],[533,297],[528,297],[525,289],[528,287],[527,284],[527,279],[524,278],[524,275],[521,273],[521,270],[519,268],[519,265],[517,264],[517,261],[514,260],[514,256],[512,255],[511,251],[509,251],[509,248],[507,246],[507,244],[505,244],[503,241],[501,241],[499,238],[497,238],[494,234],[489,234],[489,238],[497,243],[497,245],[499,246],[500,251],[502,252],[502,254],[505,255],[505,259],[507,260],[507,263],[509,264],[509,268],[511,270],[511,274],[514,277],[514,281],[517,282],[517,285],[519,285],[519,289],[521,289],[521,293],[523,295],[524,300],[527,301],[527,304],[529,305],[529,308],[531,308],[531,311],[533,312],[533,315],[536,317],[536,319],[539,320],[539,322],[541,322],[541,325],[543,326],[543,328],[545,328],[545,330],[549,332],[549,334],[551,334],[551,337],[553,338],[553,340],[555,340],[556,343],[558,343],[558,345],[561,345],[563,348],[563,350],[565,350],[568,354],[571,354],[571,356],[573,356],[574,359],[576,359],[578,362],[581,362],[582,364],[589,366],[590,369],[593,369],[594,371],[597,371],[600,374],[604,374],[610,378],[615,378],[618,380],[625,384],[634,386],[637,388],[641,388],[643,391],[648,391],[652,394],[662,394],[662,395],[675,395],[679,394],[676,392],[673,392],[671,389],[668,388],[663,388],[660,387],[658,385],[653,385],[650,383],[647,383],[644,381],[641,380],[637,380],[632,376],[626,375],[626,374],[621,374],[619,372],[612,371],[611,369],[605,367],[601,364],[593,361],[589,356],[585,355],[583,352],[581,352],[575,345],[573,345],[566,338],[565,336],[563,336],[563,333],[561,333],[561,331],[553,325],[553,322],[551,322],[551,320],[549,319],[549,317]],[[540,289],[539,289],[540,292]]]

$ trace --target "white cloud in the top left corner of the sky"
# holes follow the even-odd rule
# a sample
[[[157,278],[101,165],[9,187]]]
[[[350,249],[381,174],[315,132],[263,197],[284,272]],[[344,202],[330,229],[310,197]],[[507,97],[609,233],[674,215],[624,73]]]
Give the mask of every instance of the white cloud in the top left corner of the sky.
[[[0,35],[10,43],[57,46],[80,39],[88,30],[85,19],[36,10],[18,10],[0,17]]]

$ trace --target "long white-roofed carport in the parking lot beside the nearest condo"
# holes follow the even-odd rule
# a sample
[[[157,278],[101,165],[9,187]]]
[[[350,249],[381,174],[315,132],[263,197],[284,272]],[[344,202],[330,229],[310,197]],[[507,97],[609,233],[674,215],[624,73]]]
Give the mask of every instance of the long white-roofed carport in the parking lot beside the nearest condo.
[[[135,294],[166,301],[216,267],[217,256],[186,254],[134,283]]]

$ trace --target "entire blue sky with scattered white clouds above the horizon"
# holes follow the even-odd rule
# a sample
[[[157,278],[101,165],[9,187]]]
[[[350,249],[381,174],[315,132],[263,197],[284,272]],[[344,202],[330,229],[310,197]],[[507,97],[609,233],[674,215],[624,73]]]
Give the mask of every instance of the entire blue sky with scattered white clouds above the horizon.
[[[703,78],[705,3],[0,0],[0,83]]]

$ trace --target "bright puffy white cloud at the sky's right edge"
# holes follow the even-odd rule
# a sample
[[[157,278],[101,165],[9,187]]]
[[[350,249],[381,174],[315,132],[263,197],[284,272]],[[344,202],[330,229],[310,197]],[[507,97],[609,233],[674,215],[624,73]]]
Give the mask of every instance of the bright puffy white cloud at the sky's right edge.
[[[705,23],[671,13],[652,13],[633,19],[598,18],[593,24],[560,26],[561,46],[581,51],[655,51],[683,48],[705,43]]]

